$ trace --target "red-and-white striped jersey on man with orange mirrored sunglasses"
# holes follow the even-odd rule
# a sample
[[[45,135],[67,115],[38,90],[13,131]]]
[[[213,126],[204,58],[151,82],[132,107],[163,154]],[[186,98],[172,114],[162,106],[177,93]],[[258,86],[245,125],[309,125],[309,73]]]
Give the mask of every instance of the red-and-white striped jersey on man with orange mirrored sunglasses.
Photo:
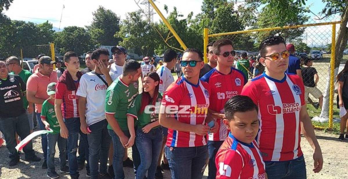
[[[252,79],[243,88],[259,107],[257,141],[264,161],[289,161],[302,155],[300,110],[304,85],[298,75],[285,74],[276,80],[266,73]]]

